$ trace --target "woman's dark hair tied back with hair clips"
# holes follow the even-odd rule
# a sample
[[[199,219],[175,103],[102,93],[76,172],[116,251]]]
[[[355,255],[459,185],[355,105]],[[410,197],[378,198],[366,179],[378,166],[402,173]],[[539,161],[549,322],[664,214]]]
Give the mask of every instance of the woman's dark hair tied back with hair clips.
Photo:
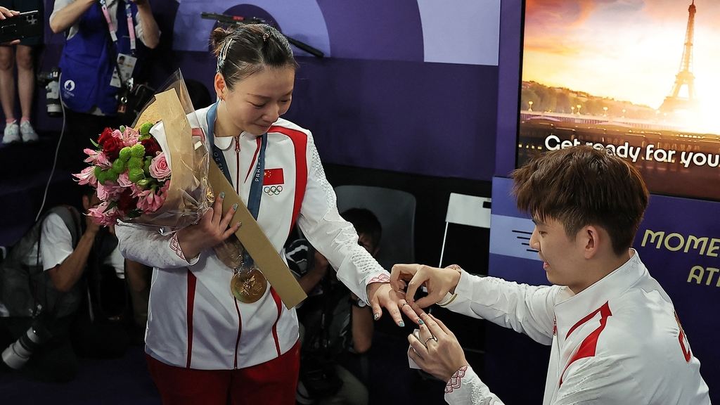
[[[217,27],[210,35],[217,73],[232,90],[235,84],[265,68],[298,67],[287,38],[266,24]]]

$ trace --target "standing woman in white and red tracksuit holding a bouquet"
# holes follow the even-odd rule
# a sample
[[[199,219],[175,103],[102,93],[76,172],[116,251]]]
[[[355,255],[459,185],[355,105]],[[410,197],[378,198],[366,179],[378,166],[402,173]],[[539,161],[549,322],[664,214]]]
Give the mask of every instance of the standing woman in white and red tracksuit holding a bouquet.
[[[216,29],[212,45],[218,102],[196,115],[215,161],[275,249],[297,221],[338,279],[372,305],[375,319],[382,307],[400,326],[401,310],[417,318],[338,214],[310,131],[280,118],[297,68],[287,39],[268,25],[240,25]],[[163,126],[152,133],[162,138]],[[263,181],[253,182],[260,174]],[[150,372],[166,404],[225,405],[228,396],[233,404],[294,404],[297,315],[271,287],[255,302],[233,295],[235,270],[212,249],[240,226],[230,224],[234,208],[222,215],[223,197],[197,225],[169,236],[117,227],[123,254],[154,267],[145,337]]]

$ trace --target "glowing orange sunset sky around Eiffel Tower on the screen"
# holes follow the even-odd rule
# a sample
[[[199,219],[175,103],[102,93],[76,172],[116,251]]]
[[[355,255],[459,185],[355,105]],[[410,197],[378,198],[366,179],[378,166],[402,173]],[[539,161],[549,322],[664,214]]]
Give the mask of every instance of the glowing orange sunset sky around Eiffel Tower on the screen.
[[[680,69],[690,1],[527,0],[523,81],[657,109]],[[716,112],[720,4],[695,5],[692,71],[703,111]]]

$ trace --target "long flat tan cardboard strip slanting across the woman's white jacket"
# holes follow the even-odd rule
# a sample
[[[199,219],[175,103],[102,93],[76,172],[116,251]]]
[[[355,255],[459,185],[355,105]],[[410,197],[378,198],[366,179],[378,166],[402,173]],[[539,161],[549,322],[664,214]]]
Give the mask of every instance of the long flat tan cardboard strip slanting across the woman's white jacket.
[[[220,168],[215,162],[210,163],[208,179],[215,195],[225,193],[225,199],[222,202],[222,214],[225,215],[230,207],[237,204],[238,210],[233,215],[231,223],[243,223],[235,236],[238,236],[240,242],[243,243],[245,249],[253,257],[258,268],[265,278],[270,282],[275,291],[280,295],[280,299],[289,309],[296,306],[300,301],[307,298],[305,291],[302,290],[300,284],[297,283],[295,277],[287,268],[287,264],[283,262],[282,257],[276,252],[274,246],[270,243],[265,233],[248,211],[243,200],[235,192],[233,186],[222,174]]]

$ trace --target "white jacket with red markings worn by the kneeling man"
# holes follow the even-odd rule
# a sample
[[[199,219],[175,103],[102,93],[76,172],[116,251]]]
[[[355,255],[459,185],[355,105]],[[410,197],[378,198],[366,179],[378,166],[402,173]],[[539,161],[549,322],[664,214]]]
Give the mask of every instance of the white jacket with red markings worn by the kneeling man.
[[[463,272],[445,307],[552,344],[544,405],[710,404],[670,297],[632,253],[577,295]],[[472,368],[445,392],[450,404],[502,404]]]

